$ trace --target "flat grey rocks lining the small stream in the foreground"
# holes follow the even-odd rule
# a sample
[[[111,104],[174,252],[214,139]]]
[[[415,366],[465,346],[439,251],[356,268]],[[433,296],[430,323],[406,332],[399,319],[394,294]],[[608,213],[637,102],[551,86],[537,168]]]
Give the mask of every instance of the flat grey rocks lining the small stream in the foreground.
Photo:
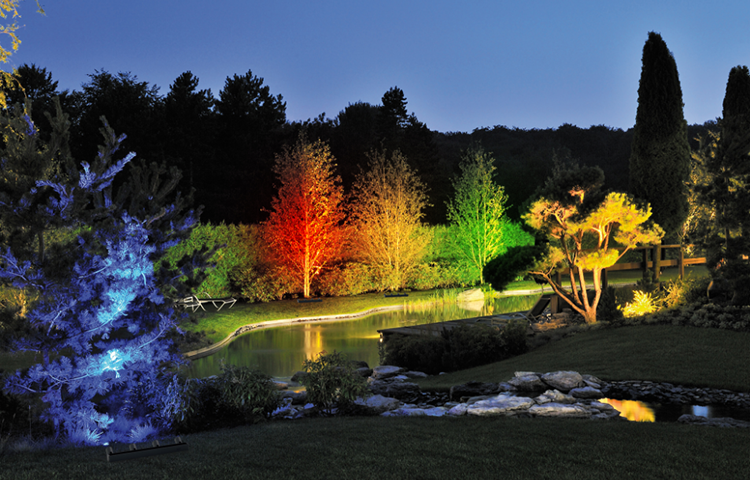
[[[598,401],[604,397],[750,408],[750,394],[747,393],[680,387],[669,383],[607,383],[571,371],[516,372],[507,382],[470,382],[452,387],[450,393],[422,392],[412,380],[425,376],[400,367],[375,367],[367,379],[373,395],[358,399],[356,404],[368,414],[383,416],[504,415],[590,419],[622,418],[614,407]],[[313,409],[305,402],[304,392],[289,392],[285,394],[284,405],[274,415],[282,418],[306,416]],[[705,419],[691,415],[683,415],[679,421],[702,425],[750,425],[733,419]]]

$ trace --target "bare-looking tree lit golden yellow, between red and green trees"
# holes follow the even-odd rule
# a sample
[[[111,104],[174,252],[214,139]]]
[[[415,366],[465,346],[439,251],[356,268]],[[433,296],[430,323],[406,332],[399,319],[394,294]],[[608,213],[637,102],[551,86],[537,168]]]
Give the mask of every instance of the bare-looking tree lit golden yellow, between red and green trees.
[[[354,182],[351,215],[354,255],[370,265],[382,289],[406,285],[430,243],[422,217],[426,187],[398,151],[368,155]]]

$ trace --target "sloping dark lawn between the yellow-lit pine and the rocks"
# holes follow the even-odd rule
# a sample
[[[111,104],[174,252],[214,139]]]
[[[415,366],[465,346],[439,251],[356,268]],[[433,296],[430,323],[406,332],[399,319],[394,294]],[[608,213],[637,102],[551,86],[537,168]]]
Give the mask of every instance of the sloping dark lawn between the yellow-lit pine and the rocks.
[[[502,362],[421,380],[422,389],[506,381],[516,371],[574,370],[602,380],[651,380],[750,392],[750,333],[649,325],[594,328]]]

